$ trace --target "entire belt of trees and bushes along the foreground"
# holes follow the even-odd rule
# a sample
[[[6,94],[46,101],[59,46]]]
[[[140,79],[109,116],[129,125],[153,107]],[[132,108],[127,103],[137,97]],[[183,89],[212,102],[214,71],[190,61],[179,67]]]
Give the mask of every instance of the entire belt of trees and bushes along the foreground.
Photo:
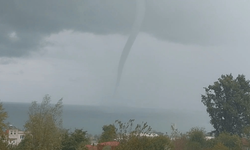
[[[102,150],[242,150],[250,147],[250,81],[244,75],[236,79],[222,75],[213,85],[205,88],[202,102],[207,107],[214,126],[215,137],[206,138],[202,128],[191,128],[181,133],[172,125],[170,135],[153,135],[152,128],[142,122],[134,126],[134,120],[126,123],[116,120],[104,125],[98,142],[114,142],[114,145],[99,144]],[[18,146],[8,144],[7,112],[0,103],[0,149],[1,150],[87,150],[90,138],[83,129],[62,128],[62,99],[55,105],[46,95],[38,104],[32,102],[29,119],[25,124],[25,138]],[[119,143],[117,143],[119,142]],[[111,142],[112,143],[112,142]],[[118,145],[117,145],[118,144]],[[88,145],[94,149],[94,145]],[[99,149],[98,149],[99,150]]]

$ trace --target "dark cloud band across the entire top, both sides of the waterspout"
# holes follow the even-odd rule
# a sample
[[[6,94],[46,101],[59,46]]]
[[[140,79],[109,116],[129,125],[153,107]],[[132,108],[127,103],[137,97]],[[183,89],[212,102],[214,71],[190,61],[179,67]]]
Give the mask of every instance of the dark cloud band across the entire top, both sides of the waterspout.
[[[141,31],[184,44],[247,42],[249,4],[234,0],[148,0]],[[2,0],[0,55],[21,56],[37,50],[45,36],[64,29],[129,34],[135,8],[134,0]]]

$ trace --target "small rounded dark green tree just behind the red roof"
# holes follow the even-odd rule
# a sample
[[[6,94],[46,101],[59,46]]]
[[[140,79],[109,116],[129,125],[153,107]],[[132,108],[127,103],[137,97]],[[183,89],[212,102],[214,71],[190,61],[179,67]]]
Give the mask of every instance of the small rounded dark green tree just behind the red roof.
[[[116,131],[115,131],[115,126],[110,124],[110,125],[104,125],[102,127],[102,134],[99,139],[99,143],[102,142],[108,142],[108,141],[114,141],[116,138]]]

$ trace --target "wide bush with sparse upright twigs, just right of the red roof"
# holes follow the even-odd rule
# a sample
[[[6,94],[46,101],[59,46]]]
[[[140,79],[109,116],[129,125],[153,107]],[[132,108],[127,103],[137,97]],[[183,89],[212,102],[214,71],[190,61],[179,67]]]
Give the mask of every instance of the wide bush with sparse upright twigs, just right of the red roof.
[[[127,123],[116,121],[117,140],[120,142],[117,150],[170,150],[173,148],[167,136],[150,136],[152,128],[147,123],[137,124],[134,120]]]

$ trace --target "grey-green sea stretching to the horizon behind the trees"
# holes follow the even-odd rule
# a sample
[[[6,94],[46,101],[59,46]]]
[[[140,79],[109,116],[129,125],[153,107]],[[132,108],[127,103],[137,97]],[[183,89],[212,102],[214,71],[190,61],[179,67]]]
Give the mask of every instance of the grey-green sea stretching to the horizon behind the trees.
[[[2,104],[8,113],[6,122],[24,130],[24,124],[29,119],[28,110],[31,103],[2,102]],[[92,135],[100,135],[104,125],[114,124],[116,120],[126,123],[129,119],[135,119],[135,125],[147,122],[152,131],[164,134],[171,133],[171,125],[175,125],[181,133],[193,127],[203,128],[207,132],[214,130],[205,110],[64,104],[62,119],[63,128],[83,129]]]

